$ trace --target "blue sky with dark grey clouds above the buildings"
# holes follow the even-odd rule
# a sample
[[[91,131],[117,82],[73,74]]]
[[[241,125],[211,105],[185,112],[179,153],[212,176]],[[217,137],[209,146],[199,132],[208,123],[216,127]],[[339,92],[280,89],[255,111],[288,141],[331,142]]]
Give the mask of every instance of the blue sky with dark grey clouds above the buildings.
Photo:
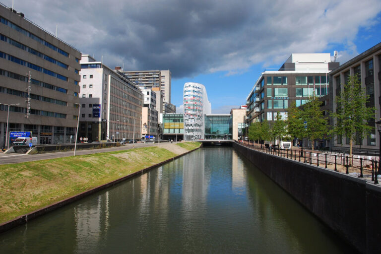
[[[0,0],[11,7],[12,0]],[[170,69],[171,103],[186,82],[206,87],[228,114],[264,69],[292,53],[330,53],[341,64],[381,42],[380,0],[14,0],[25,17],[107,66]]]

